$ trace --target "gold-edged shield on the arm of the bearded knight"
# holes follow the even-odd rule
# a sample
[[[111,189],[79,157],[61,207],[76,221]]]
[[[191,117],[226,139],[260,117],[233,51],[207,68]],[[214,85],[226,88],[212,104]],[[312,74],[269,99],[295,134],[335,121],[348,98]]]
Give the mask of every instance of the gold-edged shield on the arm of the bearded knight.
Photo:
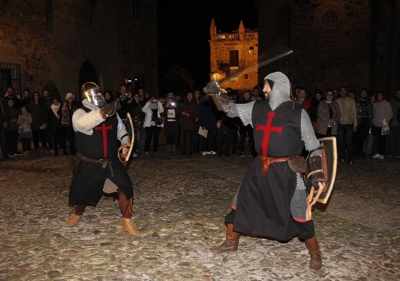
[[[326,191],[322,192],[320,198],[317,200],[323,204],[328,202],[329,196],[332,193],[333,186],[335,184],[336,179],[336,166],[338,164],[338,153],[336,146],[336,138],[335,137],[324,137],[318,139],[320,143],[324,143],[325,147],[325,156],[326,156],[326,170],[324,170],[324,175],[328,178],[328,188]],[[307,163],[307,173],[311,172],[310,160],[309,157],[306,159]],[[307,179],[307,175],[304,174],[304,182],[306,183],[307,192],[310,193],[311,190],[311,179]]]

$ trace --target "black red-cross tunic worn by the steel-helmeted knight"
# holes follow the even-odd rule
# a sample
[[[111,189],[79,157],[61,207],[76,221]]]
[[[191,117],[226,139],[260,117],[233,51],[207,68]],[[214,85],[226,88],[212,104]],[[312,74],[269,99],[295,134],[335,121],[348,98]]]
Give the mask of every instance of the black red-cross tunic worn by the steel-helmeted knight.
[[[89,110],[83,109],[86,112]],[[88,158],[110,159],[111,168],[107,165],[103,169],[100,163],[81,159],[78,170],[72,176],[69,205],[96,204],[103,192],[106,178],[118,186],[128,200],[133,197],[132,182],[117,156],[117,128],[118,118],[114,115],[94,127],[92,135],[75,132],[76,150]]]

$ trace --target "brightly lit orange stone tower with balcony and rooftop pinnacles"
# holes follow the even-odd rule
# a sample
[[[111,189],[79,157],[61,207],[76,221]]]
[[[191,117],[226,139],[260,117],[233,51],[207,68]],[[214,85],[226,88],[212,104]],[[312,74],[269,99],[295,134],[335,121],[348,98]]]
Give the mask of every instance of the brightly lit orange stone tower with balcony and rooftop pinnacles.
[[[245,29],[240,21],[238,30],[217,32],[212,19],[210,37],[210,70],[220,86],[239,95],[251,91],[258,79],[258,30]]]

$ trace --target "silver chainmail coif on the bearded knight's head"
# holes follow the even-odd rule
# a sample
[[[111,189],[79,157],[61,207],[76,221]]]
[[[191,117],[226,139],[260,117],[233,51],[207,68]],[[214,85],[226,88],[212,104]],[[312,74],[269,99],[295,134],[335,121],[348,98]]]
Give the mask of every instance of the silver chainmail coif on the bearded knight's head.
[[[275,110],[281,103],[290,101],[289,79],[279,71],[268,74],[264,81],[267,79],[273,81],[273,85],[270,85],[272,93],[268,99],[271,109]]]

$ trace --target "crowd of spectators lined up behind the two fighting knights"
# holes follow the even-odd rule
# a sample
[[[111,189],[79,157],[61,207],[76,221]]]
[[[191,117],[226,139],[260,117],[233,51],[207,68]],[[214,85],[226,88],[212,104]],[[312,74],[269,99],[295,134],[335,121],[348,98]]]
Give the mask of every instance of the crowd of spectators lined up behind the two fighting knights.
[[[230,100],[236,103],[250,103],[264,97],[258,86],[244,91],[242,95],[230,88],[226,90]],[[104,96],[107,103],[114,100],[111,91],[104,92]],[[239,118],[229,118],[218,111],[210,94],[204,95],[199,89],[177,96],[169,92],[165,99],[158,99],[145,93],[144,89],[132,93],[126,84],[122,84],[116,98],[122,105],[118,111],[121,119],[125,120],[127,113],[132,117],[135,136],[133,157],[141,153],[142,135],[144,155],[150,155],[151,143],[151,152],[156,155],[160,133],[166,137],[168,154],[237,154],[238,157],[255,157],[257,154],[251,125],[244,126]],[[29,157],[41,151],[57,156],[59,146],[64,155],[74,155],[72,114],[80,103],[73,93],[67,93],[65,100],[62,103],[59,97],[51,98],[48,91],[42,94],[36,91],[31,95],[25,89],[21,101],[14,89],[9,87],[0,101],[3,158]],[[303,105],[318,138],[336,137],[339,162],[353,165],[356,158],[366,155],[384,159],[387,136],[390,137],[388,156],[400,158],[400,88],[396,89],[394,98],[389,102],[382,91],[370,95],[366,88],[357,94],[343,85],[339,90],[327,89],[323,92],[315,89],[308,94],[306,88],[298,86],[292,100]],[[374,137],[376,149],[372,153]],[[18,140],[22,151],[18,150]]]

